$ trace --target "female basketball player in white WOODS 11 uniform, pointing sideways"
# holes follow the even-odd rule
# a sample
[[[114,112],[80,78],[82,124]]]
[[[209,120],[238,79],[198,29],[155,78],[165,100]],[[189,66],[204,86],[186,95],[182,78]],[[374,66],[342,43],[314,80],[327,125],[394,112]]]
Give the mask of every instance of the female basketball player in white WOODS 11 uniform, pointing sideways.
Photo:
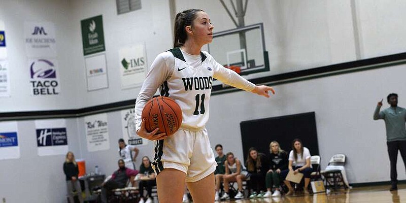
[[[137,97],[137,134],[155,142],[153,167],[157,175],[159,202],[181,202],[187,182],[194,202],[213,202],[216,161],[205,124],[213,79],[269,97],[272,87],[256,86],[217,63],[201,47],[213,40],[209,15],[199,9],[178,13],[175,18],[174,49],[159,54],[151,65]],[[182,109],[180,129],[171,137],[158,129],[147,132],[142,110],[160,87],[162,96],[176,100]]]

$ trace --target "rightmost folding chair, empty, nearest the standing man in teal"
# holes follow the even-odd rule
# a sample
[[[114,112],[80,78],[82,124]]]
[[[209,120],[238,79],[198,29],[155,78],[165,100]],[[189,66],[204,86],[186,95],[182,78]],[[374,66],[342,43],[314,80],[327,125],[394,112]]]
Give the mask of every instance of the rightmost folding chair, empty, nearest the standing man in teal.
[[[334,166],[343,166],[346,162],[346,155],[344,154],[335,154],[331,157],[328,165]],[[344,168],[343,168],[344,169]],[[324,185],[326,188],[333,188],[337,191],[340,187],[347,189],[347,185],[344,183],[343,174],[341,170],[324,170],[321,171],[321,174],[324,177]]]

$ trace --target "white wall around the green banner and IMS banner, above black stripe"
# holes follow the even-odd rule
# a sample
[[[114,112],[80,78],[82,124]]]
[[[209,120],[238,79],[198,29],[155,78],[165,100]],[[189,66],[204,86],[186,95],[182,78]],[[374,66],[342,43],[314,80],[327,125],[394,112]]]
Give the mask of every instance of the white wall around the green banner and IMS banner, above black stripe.
[[[151,65],[155,56],[172,48],[172,31],[168,1],[142,1],[142,9],[117,15],[115,1],[71,1],[75,22],[73,32],[74,58],[80,78],[77,98],[82,107],[108,104],[116,101],[135,99],[140,88],[121,90],[120,59],[118,51],[122,47],[145,43],[147,64]],[[106,44],[106,60],[109,88],[87,92],[85,63],[82,51],[80,20],[103,15],[103,28]]]

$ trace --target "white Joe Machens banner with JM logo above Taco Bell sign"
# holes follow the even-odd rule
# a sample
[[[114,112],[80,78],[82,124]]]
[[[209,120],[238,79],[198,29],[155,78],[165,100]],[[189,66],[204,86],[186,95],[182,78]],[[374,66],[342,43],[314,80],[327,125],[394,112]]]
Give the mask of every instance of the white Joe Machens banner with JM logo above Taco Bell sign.
[[[27,56],[56,57],[55,26],[52,22],[24,22]]]

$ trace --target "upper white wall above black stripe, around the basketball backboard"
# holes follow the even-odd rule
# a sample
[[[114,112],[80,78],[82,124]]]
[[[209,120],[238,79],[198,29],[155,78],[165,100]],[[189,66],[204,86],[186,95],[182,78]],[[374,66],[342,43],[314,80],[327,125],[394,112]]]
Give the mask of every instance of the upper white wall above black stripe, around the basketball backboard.
[[[406,28],[401,26],[406,18],[404,2],[355,1],[353,16],[351,1],[248,1],[245,24],[264,24],[270,72],[247,77],[357,60],[356,46],[361,52],[358,59],[406,51]],[[234,15],[229,1],[224,2]],[[190,8],[205,10],[214,32],[235,28],[220,1],[176,0],[177,12]]]

